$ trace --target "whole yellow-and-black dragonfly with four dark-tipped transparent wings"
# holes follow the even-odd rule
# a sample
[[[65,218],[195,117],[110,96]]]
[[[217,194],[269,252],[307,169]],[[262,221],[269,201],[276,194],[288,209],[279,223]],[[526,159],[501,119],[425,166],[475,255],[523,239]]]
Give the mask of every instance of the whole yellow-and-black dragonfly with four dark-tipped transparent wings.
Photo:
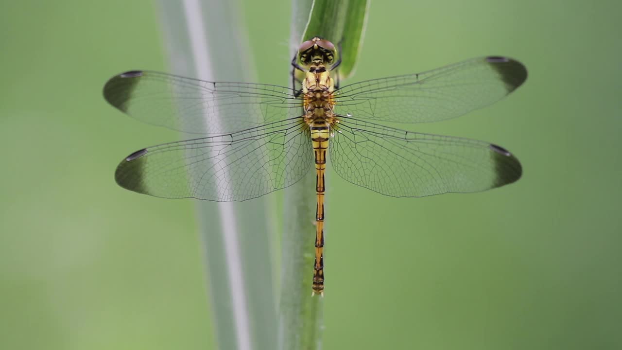
[[[332,42],[303,42],[292,60],[301,88],[208,82],[132,70],[104,86],[128,115],[190,140],[129,154],[114,178],[125,189],[166,198],[246,201],[315,171],[312,295],[324,291],[325,171],[385,196],[478,192],[517,181],[521,163],[485,141],[406,131],[389,123],[447,120],[491,105],[521,86],[527,70],[488,56],[422,73],[340,87]]]

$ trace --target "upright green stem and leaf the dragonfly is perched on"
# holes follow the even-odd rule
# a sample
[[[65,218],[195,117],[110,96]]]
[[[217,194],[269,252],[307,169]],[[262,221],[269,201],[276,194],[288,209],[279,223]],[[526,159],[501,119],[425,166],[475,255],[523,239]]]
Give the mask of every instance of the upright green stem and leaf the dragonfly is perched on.
[[[340,44],[342,52],[339,54],[343,55],[340,74],[347,77],[358,56],[368,1],[294,0],[292,8],[292,57],[302,40],[324,37]],[[313,215],[317,201],[314,189],[315,174],[309,173],[285,192],[279,304],[279,349],[282,350],[322,347],[323,300],[311,296],[315,258]],[[330,201],[330,197],[327,199]],[[327,220],[330,222],[328,215]],[[327,295],[330,295],[330,273],[327,276]]]

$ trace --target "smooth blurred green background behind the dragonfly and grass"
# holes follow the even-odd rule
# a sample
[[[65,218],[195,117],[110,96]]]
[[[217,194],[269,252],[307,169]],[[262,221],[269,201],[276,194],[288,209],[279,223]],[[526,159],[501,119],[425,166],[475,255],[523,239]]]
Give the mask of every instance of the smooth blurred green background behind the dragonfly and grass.
[[[243,4],[259,81],[287,83],[289,1]],[[101,96],[115,73],[169,70],[156,5],[0,4],[1,349],[215,344],[193,201],[113,180],[129,152],[179,137]],[[325,349],[622,348],[620,10],[371,4],[350,81],[480,55],[527,66],[524,87],[502,102],[409,127],[501,144],[524,177],[395,199],[332,173]]]

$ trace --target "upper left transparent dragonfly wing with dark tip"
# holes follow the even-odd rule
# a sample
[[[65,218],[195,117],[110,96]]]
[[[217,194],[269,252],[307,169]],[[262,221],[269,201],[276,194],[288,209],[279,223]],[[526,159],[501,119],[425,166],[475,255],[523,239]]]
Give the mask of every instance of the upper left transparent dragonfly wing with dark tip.
[[[205,82],[135,70],[112,77],[104,98],[137,120],[173,130],[220,134],[300,113],[294,90],[276,85]]]

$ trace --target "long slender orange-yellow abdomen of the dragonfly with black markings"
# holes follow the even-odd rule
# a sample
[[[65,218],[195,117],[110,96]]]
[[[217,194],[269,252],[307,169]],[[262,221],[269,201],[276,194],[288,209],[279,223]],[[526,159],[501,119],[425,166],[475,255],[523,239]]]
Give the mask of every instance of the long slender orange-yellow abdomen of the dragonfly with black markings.
[[[325,120],[313,121],[310,125],[313,153],[315,153],[315,192],[317,208],[315,209],[315,263],[313,264],[313,294],[323,295],[324,291],[324,171],[326,170],[326,153],[330,138],[330,127]]]

